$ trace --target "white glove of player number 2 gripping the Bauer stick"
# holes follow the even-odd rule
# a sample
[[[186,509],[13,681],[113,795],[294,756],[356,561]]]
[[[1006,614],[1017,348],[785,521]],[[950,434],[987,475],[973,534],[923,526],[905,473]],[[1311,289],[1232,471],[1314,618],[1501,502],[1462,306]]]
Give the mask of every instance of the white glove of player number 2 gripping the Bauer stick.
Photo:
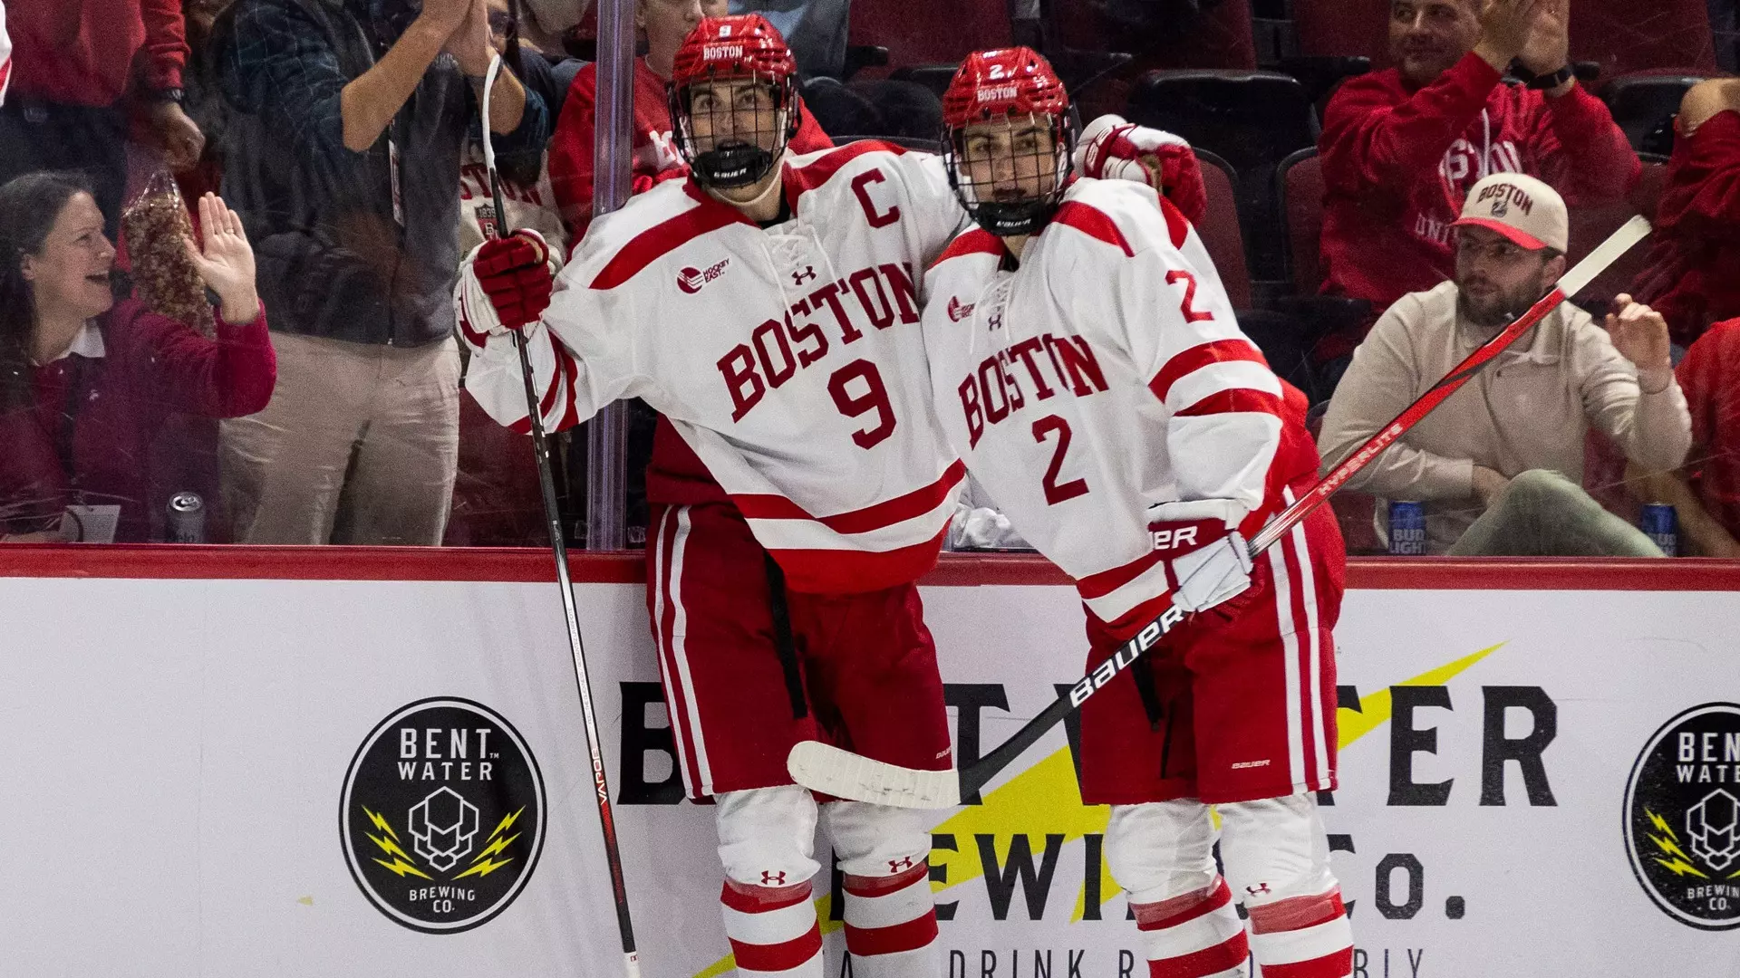
[[[1239,534],[1248,510],[1232,499],[1148,506],[1148,536],[1164,553],[1173,604],[1208,611],[1251,586],[1251,552]]]

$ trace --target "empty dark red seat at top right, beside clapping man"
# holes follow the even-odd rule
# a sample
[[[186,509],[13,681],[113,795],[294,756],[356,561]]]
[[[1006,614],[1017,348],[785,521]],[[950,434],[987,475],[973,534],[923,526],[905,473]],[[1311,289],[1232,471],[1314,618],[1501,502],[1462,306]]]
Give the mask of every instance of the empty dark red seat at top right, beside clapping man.
[[[1716,73],[1705,0],[1578,0],[1571,5],[1571,57],[1594,61],[1604,78],[1648,68]]]

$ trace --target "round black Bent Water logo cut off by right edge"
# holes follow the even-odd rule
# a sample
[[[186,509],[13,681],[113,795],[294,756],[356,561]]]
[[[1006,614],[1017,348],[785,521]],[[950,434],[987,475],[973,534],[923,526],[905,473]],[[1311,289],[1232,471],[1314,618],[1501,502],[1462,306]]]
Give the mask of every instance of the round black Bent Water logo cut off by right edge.
[[[1669,917],[1740,928],[1740,705],[1693,707],[1655,731],[1625,785],[1625,851]]]

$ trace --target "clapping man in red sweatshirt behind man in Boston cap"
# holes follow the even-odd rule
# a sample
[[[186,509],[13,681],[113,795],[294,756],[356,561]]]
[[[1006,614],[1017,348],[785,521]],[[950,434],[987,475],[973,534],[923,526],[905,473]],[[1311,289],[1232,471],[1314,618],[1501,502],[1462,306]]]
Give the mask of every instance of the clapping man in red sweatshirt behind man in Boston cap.
[[[1395,68],[1342,85],[1324,111],[1324,292],[1368,299],[1345,357],[1385,308],[1455,270],[1451,221],[1493,172],[1547,181],[1571,207],[1622,200],[1643,172],[1608,108],[1571,77],[1569,0],[1392,0]],[[1533,75],[1505,84],[1510,63]]]

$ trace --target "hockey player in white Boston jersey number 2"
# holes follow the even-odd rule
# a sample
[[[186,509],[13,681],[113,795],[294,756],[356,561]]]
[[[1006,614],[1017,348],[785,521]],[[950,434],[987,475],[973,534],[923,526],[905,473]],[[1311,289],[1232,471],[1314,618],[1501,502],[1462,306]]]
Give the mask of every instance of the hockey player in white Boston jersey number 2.
[[[1082,800],[1114,806],[1107,860],[1150,973],[1244,976],[1255,952],[1265,975],[1343,978],[1352,938],[1312,794],[1335,787],[1342,538],[1322,508],[1255,566],[1244,545],[1315,479],[1303,411],[1188,221],[1147,186],[1072,179],[1044,59],[969,56],[943,117],[978,223],[926,275],[952,444],[1075,579],[1089,672],[1168,602],[1192,613],[1082,707]]]

